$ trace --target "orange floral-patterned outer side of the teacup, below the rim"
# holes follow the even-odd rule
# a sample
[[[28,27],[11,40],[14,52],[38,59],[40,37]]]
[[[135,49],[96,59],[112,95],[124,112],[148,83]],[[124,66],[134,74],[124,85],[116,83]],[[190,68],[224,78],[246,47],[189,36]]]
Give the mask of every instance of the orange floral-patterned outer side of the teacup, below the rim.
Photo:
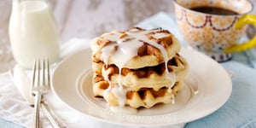
[[[204,52],[222,52],[223,49],[230,48],[246,30],[246,27],[234,29],[233,26],[238,20],[235,15],[225,19],[218,15],[205,14],[198,14],[195,17],[191,12],[183,10],[177,16],[180,17],[177,26],[180,26],[179,30],[183,37],[189,45]]]

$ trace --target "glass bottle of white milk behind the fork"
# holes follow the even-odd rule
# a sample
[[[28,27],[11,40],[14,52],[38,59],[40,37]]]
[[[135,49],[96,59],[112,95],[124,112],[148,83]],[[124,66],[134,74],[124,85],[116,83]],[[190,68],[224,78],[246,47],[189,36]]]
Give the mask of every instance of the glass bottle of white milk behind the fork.
[[[59,60],[60,44],[54,15],[45,0],[13,0],[9,39],[15,61],[32,68],[36,57]]]

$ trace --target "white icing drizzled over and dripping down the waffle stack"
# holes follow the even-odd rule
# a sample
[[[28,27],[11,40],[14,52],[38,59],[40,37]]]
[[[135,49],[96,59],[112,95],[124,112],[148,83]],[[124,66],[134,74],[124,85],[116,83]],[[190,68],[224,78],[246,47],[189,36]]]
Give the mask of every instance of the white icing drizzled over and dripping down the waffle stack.
[[[131,29],[129,32],[125,32],[126,36],[124,38],[119,38],[122,34],[121,32],[113,32],[108,35],[104,35],[103,38],[112,41],[111,44],[108,44],[102,49],[102,59],[104,63],[108,64],[109,57],[119,68],[119,81],[118,84],[115,84],[113,89],[110,85],[110,81],[108,76],[103,76],[104,79],[108,80],[109,87],[107,90],[104,91],[104,96],[108,95],[110,91],[113,92],[114,96],[118,98],[119,107],[125,106],[126,101],[126,92],[127,89],[123,87],[121,84],[121,70],[125,66],[127,61],[130,61],[132,57],[137,55],[137,50],[143,46],[143,43],[150,44],[157,49],[160,49],[160,52],[164,56],[165,59],[165,66],[166,66],[166,78],[172,81],[171,86],[168,89],[169,93],[172,93],[172,86],[175,84],[176,75],[175,73],[170,73],[168,71],[167,62],[168,55],[164,46],[160,44],[156,44],[154,41],[148,39],[147,35],[152,31],[140,31],[138,29]],[[150,34],[153,38],[164,38],[168,34],[164,32],[154,32],[154,34]],[[174,103],[174,95],[172,94],[172,103]]]

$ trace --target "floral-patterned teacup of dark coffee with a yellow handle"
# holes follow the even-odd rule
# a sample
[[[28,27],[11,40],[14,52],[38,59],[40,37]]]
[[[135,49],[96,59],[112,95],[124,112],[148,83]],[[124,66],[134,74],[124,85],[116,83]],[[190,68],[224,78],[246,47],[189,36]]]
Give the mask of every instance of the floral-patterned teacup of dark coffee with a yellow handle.
[[[228,61],[231,52],[256,46],[256,38],[237,44],[246,24],[256,24],[249,0],[174,0],[177,26],[189,46],[216,61]]]

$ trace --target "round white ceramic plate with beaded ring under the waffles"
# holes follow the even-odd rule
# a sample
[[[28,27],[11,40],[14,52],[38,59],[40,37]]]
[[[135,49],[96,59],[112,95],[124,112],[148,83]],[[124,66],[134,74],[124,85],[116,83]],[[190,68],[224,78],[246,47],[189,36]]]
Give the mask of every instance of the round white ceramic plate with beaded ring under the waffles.
[[[218,110],[231,94],[231,79],[223,67],[193,49],[182,49],[180,55],[189,62],[189,77],[175,104],[142,108],[136,114],[116,113],[92,95],[90,52],[83,49],[61,61],[53,73],[52,86],[62,102],[94,119],[119,125],[183,124]]]

